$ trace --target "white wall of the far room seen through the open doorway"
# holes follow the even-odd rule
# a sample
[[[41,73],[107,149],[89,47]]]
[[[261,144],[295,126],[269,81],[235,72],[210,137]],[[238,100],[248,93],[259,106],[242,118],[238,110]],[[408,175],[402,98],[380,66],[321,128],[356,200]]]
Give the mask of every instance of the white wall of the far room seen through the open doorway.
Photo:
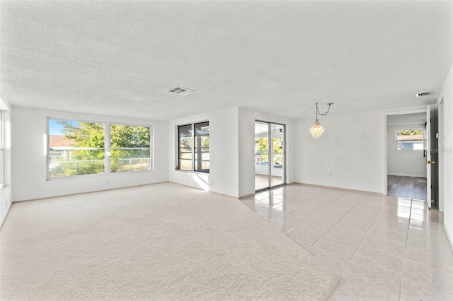
[[[425,124],[387,126],[387,174],[406,177],[426,177],[423,150],[396,151],[395,131],[423,129]]]

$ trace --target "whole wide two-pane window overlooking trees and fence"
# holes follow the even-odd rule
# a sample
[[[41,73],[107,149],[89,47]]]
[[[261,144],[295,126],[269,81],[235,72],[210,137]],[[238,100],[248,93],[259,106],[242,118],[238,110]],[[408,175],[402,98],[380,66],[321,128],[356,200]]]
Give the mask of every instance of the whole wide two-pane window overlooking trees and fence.
[[[47,178],[151,170],[151,126],[48,119]]]

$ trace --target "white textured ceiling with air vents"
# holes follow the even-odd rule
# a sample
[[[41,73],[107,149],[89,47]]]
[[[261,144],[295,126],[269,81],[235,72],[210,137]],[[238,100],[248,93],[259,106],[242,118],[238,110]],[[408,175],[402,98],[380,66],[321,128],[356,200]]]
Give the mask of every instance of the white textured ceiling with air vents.
[[[452,16],[452,1],[1,1],[1,88],[11,105],[147,119],[426,105]]]

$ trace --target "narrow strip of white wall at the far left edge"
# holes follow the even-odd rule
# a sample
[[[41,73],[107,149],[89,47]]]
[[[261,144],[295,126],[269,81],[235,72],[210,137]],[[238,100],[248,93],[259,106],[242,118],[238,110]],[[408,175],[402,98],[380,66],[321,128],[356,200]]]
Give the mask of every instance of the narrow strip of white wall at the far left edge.
[[[3,182],[4,187],[0,189],[0,227],[11,208],[11,105],[1,90],[0,109],[4,117],[4,151],[3,151]]]

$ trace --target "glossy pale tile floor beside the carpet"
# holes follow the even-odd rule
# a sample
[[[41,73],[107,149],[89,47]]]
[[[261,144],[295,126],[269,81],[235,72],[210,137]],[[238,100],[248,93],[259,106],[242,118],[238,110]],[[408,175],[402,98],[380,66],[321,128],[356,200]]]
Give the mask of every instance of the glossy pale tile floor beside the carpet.
[[[241,201],[341,274],[330,300],[453,300],[443,215],[425,201],[302,185]]]

